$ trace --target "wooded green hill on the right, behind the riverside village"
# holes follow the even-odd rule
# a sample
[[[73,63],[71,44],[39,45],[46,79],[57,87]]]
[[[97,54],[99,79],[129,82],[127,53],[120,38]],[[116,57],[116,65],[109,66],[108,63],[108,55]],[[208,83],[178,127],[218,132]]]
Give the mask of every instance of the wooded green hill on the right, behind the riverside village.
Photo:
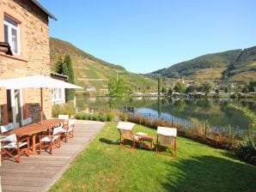
[[[245,50],[207,54],[160,69],[149,76],[163,75],[171,79],[184,77],[187,81],[255,81],[256,46]]]

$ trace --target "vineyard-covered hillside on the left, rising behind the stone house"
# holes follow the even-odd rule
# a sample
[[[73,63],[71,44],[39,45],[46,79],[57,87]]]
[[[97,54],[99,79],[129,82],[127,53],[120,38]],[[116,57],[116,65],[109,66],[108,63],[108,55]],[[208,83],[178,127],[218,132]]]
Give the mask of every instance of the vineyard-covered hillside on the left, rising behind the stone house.
[[[156,87],[156,81],[143,75],[137,75],[125,70],[124,67],[107,63],[60,39],[50,38],[51,68],[58,57],[70,55],[75,74],[75,82],[82,87],[95,87],[96,90],[106,90],[110,77],[124,78],[134,90],[147,87]]]

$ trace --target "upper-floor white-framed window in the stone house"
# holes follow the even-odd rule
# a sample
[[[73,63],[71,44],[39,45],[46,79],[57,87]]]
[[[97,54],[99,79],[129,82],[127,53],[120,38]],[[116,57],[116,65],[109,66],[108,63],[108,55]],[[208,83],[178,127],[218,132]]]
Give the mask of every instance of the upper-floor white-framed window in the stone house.
[[[3,27],[4,42],[9,43],[11,51],[14,55],[21,55],[19,23],[9,18],[9,16],[4,15]]]

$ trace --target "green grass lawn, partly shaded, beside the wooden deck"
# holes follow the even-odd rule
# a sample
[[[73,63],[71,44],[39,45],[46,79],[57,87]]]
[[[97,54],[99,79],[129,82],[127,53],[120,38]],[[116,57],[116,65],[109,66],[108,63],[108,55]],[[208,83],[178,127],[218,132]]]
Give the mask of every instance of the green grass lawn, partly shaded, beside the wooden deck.
[[[108,123],[50,191],[256,191],[256,167],[227,151],[179,137],[174,159],[119,147],[118,138],[116,123]]]

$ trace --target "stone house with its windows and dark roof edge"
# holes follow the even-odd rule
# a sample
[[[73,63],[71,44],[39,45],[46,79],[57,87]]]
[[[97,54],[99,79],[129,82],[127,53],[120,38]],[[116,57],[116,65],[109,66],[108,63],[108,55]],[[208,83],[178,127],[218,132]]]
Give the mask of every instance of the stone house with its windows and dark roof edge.
[[[57,20],[36,0],[0,1],[0,42],[12,55],[0,51],[0,80],[27,75],[50,76],[49,18]],[[44,90],[44,117],[52,117],[52,90]],[[0,124],[40,120],[40,89],[0,87]]]

